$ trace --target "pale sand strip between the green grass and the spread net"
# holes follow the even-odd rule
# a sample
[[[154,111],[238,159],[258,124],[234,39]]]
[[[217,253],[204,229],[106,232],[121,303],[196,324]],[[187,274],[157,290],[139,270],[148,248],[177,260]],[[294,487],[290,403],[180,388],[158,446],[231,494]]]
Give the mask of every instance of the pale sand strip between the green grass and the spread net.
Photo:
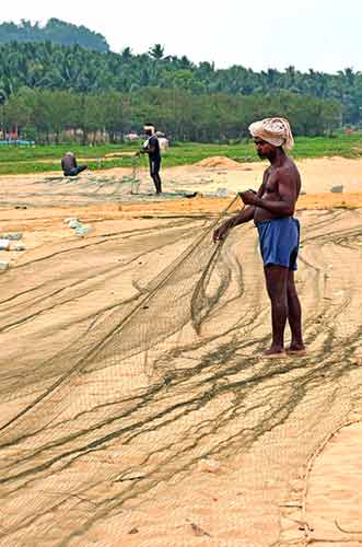
[[[164,190],[208,194],[220,188],[227,188],[230,193],[258,188],[266,166],[265,162],[238,164],[227,159],[223,162],[221,159],[217,167],[172,167],[163,171]],[[302,160],[297,162],[297,166],[302,174],[303,191],[306,194],[329,193],[334,186],[340,185],[345,193],[362,191],[362,160]],[[82,174],[75,179],[62,177],[59,171],[45,175],[3,176],[0,203],[59,207],[115,202],[130,198],[135,201],[137,196],[130,196],[130,184],[127,182],[131,175],[132,170],[117,167]],[[153,187],[145,168],[137,172],[137,176],[141,179],[140,193],[144,201],[144,194],[152,194]],[[122,182],[124,177],[126,182]]]

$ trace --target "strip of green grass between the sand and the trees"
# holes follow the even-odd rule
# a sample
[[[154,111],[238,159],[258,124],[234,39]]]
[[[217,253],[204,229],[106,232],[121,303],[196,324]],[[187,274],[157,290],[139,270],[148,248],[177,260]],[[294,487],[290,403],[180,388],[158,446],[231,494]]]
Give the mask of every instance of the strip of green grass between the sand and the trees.
[[[129,154],[138,150],[137,146],[86,146],[59,144],[59,146],[35,146],[35,147],[9,147],[0,148],[0,175],[15,175],[25,173],[40,173],[48,171],[60,171],[60,159],[72,150],[79,163],[86,161],[90,170],[110,167],[131,167],[130,155],[119,158],[105,158],[106,154]],[[252,141],[226,146],[226,144],[202,144],[175,142],[164,155],[163,165],[187,165],[197,163],[212,155],[225,155],[240,162],[258,161]],[[300,137],[295,141],[293,158],[323,158],[339,155],[343,158],[362,158],[362,133],[338,135],[328,137]],[[145,159],[142,159],[145,164]]]

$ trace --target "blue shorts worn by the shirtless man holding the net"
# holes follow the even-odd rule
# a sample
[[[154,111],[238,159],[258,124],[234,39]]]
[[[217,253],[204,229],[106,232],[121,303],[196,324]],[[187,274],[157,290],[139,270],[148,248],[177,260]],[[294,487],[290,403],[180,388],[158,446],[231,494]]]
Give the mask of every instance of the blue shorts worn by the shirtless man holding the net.
[[[296,270],[300,246],[300,223],[292,217],[265,220],[257,223],[264,266],[276,264]]]

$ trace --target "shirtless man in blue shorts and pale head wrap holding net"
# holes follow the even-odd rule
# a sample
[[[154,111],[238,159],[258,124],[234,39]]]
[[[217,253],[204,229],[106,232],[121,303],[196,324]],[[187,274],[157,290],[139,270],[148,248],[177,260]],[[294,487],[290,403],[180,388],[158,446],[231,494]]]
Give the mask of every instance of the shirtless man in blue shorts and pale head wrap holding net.
[[[268,295],[271,302],[272,341],[264,357],[284,357],[284,330],[289,322],[292,339],[287,353],[304,354],[302,311],[294,284],[300,243],[300,224],[293,218],[301,190],[301,177],[283,147],[293,147],[290,125],[284,118],[267,118],[250,125],[259,158],[268,159],[262,184],[257,193],[241,193],[247,206],[213,233],[213,241],[223,240],[227,231],[254,220],[258,229],[260,252]]]

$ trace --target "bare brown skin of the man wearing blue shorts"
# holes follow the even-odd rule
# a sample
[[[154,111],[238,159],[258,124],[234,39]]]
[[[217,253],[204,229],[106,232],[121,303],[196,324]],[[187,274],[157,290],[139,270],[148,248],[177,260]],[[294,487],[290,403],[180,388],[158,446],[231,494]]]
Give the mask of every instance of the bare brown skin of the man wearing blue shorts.
[[[265,220],[292,217],[301,190],[301,177],[294,162],[282,147],[275,147],[262,139],[254,139],[259,158],[268,159],[270,166],[265,171],[262,184],[257,193],[241,193],[247,206],[240,213],[224,222],[213,233],[213,241],[223,240],[227,231],[238,224],[254,220],[255,224]],[[264,352],[266,357],[284,356],[284,329],[287,319],[292,340],[287,352],[302,354],[305,350],[302,336],[302,311],[297,298],[294,271],[276,264],[264,268],[266,286],[271,302],[272,342]]]

